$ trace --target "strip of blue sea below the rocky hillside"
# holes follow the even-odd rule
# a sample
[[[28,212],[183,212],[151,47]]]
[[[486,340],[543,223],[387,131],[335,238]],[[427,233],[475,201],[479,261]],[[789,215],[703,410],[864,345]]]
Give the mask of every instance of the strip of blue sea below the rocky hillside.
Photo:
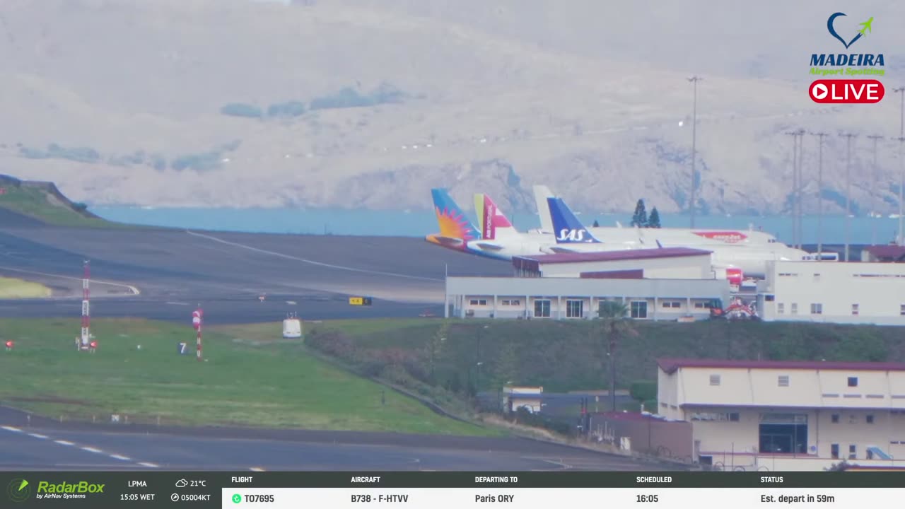
[[[433,234],[437,221],[430,210],[392,211],[355,209],[299,209],[299,208],[156,208],[142,206],[92,206],[98,216],[138,225],[170,226],[199,230],[218,230],[276,234],[315,235],[389,235],[416,236]],[[624,226],[631,223],[631,214],[578,214],[587,226],[596,220],[600,226]],[[533,214],[510,214],[510,220],[526,230],[540,226]],[[472,216],[472,221],[474,217]],[[689,216],[663,215],[662,226],[689,227]],[[805,216],[804,243],[817,242],[817,217]],[[792,243],[790,216],[698,216],[699,228],[755,229],[776,235],[780,241]],[[852,217],[852,244],[887,244],[897,235],[899,219],[890,217]],[[845,241],[845,217],[824,216],[824,244]]]

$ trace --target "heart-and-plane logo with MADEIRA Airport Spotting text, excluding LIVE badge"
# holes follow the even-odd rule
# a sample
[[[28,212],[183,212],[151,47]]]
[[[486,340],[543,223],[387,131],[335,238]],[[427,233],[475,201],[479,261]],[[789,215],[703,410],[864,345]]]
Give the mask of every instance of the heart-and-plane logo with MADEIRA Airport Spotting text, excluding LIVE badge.
[[[867,34],[873,32],[873,17],[858,24],[860,30],[855,31],[853,35],[851,32],[846,32],[843,37],[839,34],[837,20],[846,16],[845,13],[832,14],[826,20],[826,30],[834,39],[843,44],[845,50],[849,50],[854,43],[861,41]],[[883,53],[811,53],[811,74],[821,76],[882,76],[886,73],[882,69],[884,65]]]

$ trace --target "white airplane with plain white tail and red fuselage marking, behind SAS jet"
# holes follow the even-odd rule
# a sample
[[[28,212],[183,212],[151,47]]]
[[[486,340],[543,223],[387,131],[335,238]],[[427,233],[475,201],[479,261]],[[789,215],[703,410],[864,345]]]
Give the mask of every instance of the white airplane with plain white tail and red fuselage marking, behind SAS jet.
[[[540,216],[540,231],[547,234],[555,233],[547,198],[556,197],[546,186],[534,186],[534,201],[538,206]],[[587,230],[598,238],[606,241],[617,239],[639,240],[646,247],[654,247],[653,237],[661,238],[669,236],[681,245],[689,247],[697,245],[773,245],[781,244],[776,240],[776,235],[766,232],[749,230],[713,230],[700,228],[625,228],[619,223],[612,226],[592,226]]]

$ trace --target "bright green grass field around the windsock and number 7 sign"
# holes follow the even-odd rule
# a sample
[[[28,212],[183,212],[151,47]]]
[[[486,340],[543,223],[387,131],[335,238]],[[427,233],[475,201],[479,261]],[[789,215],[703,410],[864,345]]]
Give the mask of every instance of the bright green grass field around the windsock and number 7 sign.
[[[96,320],[94,354],[75,350],[78,330],[76,320],[0,321],[0,336],[16,341],[0,352],[0,399],[68,419],[494,434],[312,357],[300,341],[281,340],[278,322],[205,331],[205,362],[183,325]],[[179,341],[187,355],[177,354]]]

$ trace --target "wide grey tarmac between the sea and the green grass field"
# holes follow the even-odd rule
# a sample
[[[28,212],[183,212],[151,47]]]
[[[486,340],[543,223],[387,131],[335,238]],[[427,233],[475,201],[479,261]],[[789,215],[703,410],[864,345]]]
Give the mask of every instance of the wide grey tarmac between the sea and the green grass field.
[[[5,225],[0,274],[48,284],[56,297],[4,301],[0,317],[78,315],[83,260],[91,262],[94,316],[183,320],[182,308],[201,303],[212,323],[270,321],[285,312],[307,320],[442,314],[445,274],[511,274],[505,262],[420,238]],[[369,295],[375,304],[354,308],[348,295]]]

